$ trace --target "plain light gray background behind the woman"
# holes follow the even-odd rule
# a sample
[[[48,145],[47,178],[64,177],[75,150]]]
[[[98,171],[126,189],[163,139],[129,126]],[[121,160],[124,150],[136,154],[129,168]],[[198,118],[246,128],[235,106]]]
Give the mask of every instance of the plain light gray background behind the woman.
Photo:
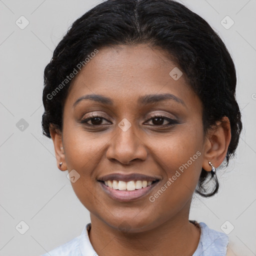
[[[55,46],[76,18],[99,2],[0,0],[0,255],[40,255],[79,235],[89,222],[67,171],[56,167],[51,140],[42,136],[41,96],[43,69]],[[182,2],[209,22],[230,51],[244,125],[236,157],[217,170],[218,194],[208,199],[195,195],[190,219],[219,231],[234,226],[228,234],[234,255],[256,255],[256,1]],[[15,23],[25,24],[21,15],[29,21],[24,29]],[[229,29],[221,24],[226,15],[234,21]],[[24,234],[20,221],[29,226]]]

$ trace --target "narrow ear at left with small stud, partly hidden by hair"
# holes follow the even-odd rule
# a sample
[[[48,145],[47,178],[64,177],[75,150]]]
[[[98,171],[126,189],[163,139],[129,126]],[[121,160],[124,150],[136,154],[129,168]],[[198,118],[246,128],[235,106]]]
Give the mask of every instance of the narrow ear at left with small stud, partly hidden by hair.
[[[55,150],[55,156],[57,160],[57,167],[60,170],[66,170],[66,162],[65,162],[65,154],[64,154],[64,148],[62,144],[62,133],[60,130],[53,127],[53,125],[50,124],[49,127],[50,136],[53,141],[54,150]],[[60,164],[62,162],[62,164]]]

